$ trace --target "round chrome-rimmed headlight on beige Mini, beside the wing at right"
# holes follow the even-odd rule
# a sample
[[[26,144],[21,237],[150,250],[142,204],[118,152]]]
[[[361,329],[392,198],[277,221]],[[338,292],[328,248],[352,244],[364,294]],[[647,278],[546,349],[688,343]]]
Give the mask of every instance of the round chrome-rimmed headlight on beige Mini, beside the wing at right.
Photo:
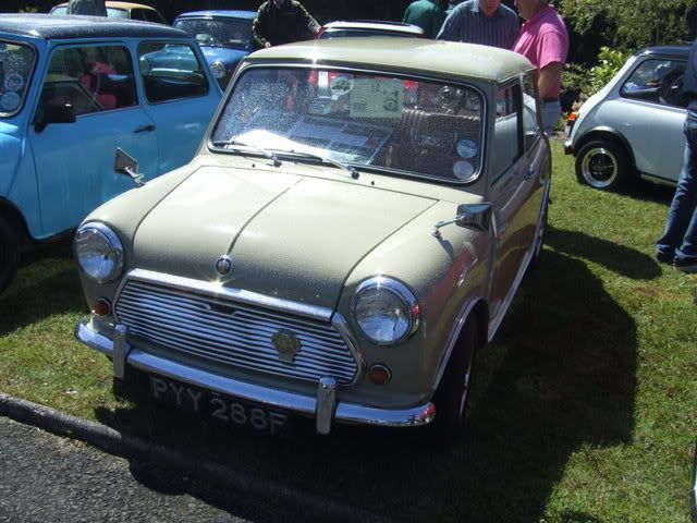
[[[420,308],[404,284],[379,276],[360,283],[351,312],[366,338],[379,345],[391,345],[418,328]]]

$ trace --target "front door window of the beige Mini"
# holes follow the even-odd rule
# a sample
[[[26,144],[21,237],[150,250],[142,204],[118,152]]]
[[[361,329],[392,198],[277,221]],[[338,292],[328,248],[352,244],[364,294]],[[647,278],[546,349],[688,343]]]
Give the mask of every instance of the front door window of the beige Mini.
[[[521,139],[521,86],[504,87],[497,95],[497,118],[491,149],[492,181],[499,180],[523,154]]]

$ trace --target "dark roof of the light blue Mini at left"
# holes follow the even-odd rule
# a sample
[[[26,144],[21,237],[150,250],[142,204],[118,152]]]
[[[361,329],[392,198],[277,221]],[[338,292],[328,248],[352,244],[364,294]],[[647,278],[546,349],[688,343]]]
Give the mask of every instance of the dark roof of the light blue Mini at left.
[[[0,14],[0,33],[9,33],[45,40],[66,38],[186,38],[188,33],[168,25],[106,16],[57,14]]]

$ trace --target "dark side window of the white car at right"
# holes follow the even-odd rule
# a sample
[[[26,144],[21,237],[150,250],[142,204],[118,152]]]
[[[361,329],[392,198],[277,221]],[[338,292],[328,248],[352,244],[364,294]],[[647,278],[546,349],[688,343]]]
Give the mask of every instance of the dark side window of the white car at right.
[[[620,94],[662,106],[687,107],[683,94],[685,68],[681,60],[644,60],[622,85]]]

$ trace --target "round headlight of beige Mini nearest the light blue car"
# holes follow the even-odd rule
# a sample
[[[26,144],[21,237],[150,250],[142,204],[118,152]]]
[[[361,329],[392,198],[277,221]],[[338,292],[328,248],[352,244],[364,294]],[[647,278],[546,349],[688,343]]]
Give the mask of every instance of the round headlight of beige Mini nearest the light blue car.
[[[85,223],[75,234],[75,259],[87,276],[99,283],[113,280],[123,270],[123,246],[103,223]]]

